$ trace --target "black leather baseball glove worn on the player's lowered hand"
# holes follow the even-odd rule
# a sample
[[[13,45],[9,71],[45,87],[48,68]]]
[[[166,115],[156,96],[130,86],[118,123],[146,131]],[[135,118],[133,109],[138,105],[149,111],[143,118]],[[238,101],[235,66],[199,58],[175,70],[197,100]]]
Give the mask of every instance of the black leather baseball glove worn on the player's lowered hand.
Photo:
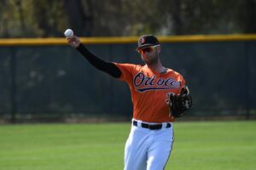
[[[180,94],[168,94],[166,103],[175,118],[184,115],[192,106],[192,98],[189,94],[189,88],[184,86]]]

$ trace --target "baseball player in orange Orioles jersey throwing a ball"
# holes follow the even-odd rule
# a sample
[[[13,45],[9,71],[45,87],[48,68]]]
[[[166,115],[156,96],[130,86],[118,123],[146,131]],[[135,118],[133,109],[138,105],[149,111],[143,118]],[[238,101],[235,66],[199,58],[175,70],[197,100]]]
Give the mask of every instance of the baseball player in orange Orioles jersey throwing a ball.
[[[138,40],[137,52],[145,65],[107,62],[84,47],[79,37],[67,38],[91,65],[128,83],[133,118],[125,144],[125,170],[165,169],[172,151],[172,122],[189,110],[192,99],[185,80],[160,62],[160,42],[152,35]]]

